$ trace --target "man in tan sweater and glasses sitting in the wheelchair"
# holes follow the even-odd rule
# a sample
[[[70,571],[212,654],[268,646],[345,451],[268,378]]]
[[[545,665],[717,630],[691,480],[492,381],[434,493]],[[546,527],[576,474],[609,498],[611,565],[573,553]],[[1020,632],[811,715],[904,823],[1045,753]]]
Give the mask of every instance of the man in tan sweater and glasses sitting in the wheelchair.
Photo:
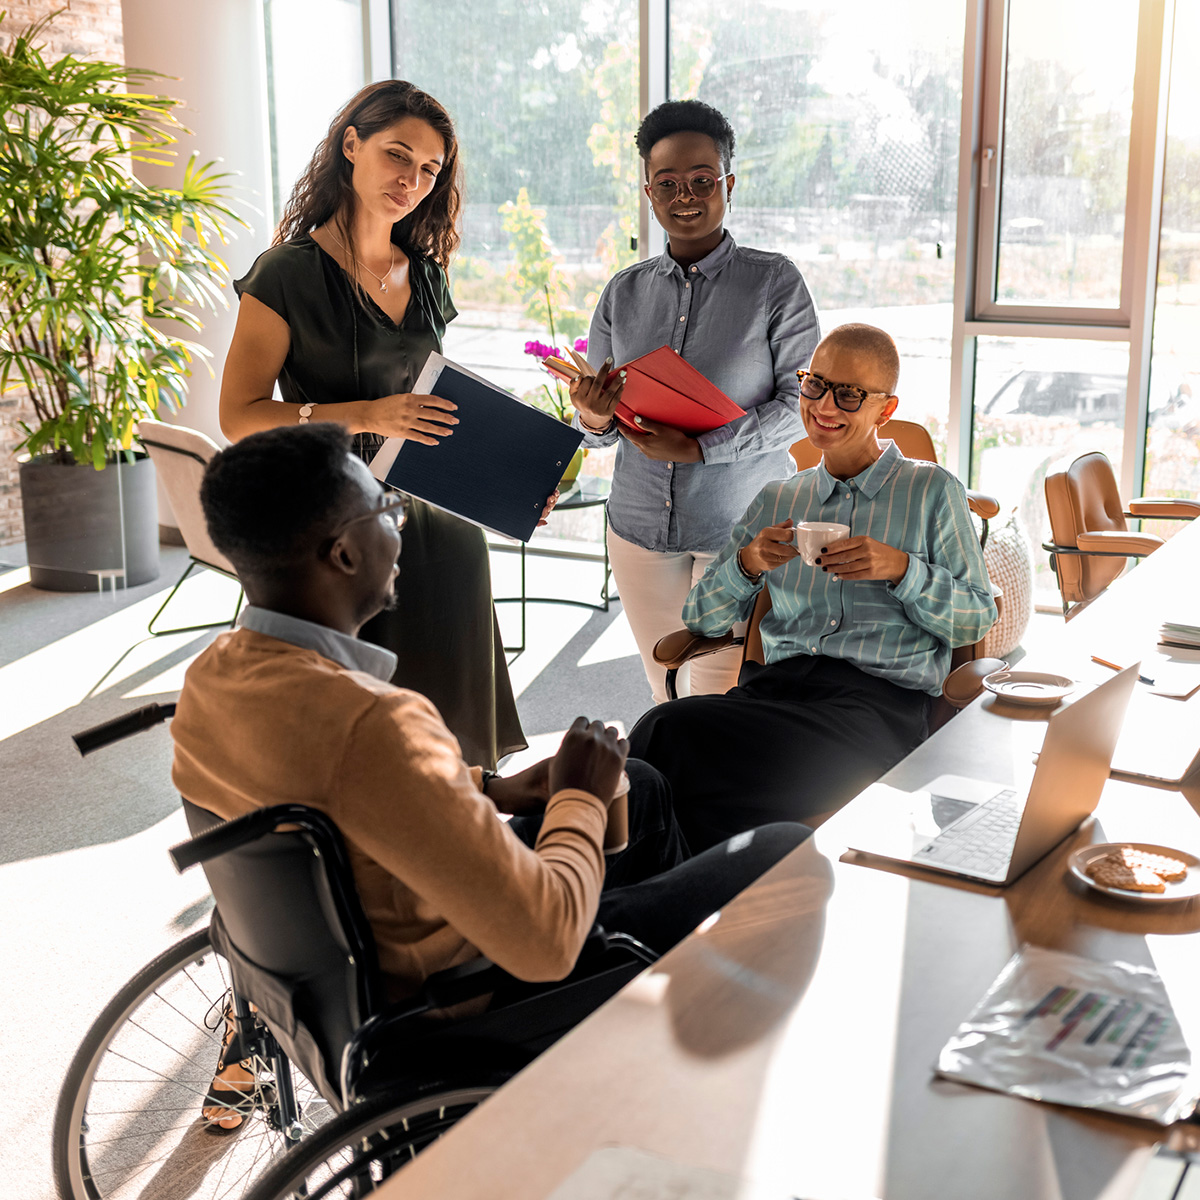
[[[664,778],[582,716],[523,772],[468,767],[433,704],[389,682],[394,655],[355,636],[391,601],[404,498],[340,426],[251,434],[212,460],[200,499],[248,607],[187,672],[174,782],[222,818],[283,803],[326,812],[390,998],[480,955],[522,980],[562,979],[598,919],[666,950],[808,835],[779,823],[692,857]],[[629,844],[606,860],[623,769]],[[227,1046],[205,1098],[221,1129],[241,1124],[253,1085],[236,1057]]]

